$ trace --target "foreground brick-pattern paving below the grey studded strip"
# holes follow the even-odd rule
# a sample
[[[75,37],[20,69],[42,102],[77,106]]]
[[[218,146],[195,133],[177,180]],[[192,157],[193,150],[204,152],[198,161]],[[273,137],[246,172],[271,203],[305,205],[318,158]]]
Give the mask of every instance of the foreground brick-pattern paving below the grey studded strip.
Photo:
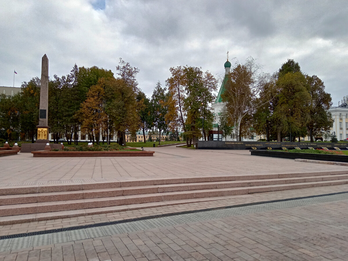
[[[348,200],[0,252],[0,260],[347,260]]]

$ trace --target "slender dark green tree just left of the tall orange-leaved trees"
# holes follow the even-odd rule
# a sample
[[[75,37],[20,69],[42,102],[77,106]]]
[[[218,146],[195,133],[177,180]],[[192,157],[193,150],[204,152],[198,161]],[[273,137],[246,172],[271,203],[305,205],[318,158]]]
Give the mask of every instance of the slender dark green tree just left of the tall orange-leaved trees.
[[[161,83],[158,81],[151,97],[153,125],[159,131],[158,145],[161,144],[160,137],[163,135],[162,131],[167,132],[169,125],[165,118],[168,113],[168,95],[166,94],[166,90],[166,88],[161,87]]]

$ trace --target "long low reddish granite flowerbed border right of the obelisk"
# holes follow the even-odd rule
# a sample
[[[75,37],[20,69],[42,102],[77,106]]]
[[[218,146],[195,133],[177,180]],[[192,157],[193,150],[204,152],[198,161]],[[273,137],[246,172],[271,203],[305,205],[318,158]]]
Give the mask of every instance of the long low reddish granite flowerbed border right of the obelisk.
[[[155,151],[32,151],[33,157],[148,157]]]

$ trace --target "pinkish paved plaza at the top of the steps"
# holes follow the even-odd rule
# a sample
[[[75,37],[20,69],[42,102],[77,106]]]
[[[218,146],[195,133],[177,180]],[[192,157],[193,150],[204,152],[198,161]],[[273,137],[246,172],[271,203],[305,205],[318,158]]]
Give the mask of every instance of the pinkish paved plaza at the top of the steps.
[[[248,150],[185,150],[173,146],[152,149],[153,157],[33,158],[31,153],[1,157],[0,186],[347,169],[251,156]]]

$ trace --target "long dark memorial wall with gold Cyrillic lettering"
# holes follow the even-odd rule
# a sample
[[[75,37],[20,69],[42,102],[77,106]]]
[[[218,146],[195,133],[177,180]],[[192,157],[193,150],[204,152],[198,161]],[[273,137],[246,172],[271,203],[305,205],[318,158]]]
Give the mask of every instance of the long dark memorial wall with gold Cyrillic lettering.
[[[281,150],[282,147],[287,149],[293,149],[299,147],[301,149],[308,149],[312,147],[314,149],[321,149],[326,147],[329,150],[334,150],[337,147],[341,150],[346,150],[348,143],[331,143],[331,142],[263,142],[263,141],[198,141],[196,149],[200,150],[266,150],[271,148],[272,150]]]

